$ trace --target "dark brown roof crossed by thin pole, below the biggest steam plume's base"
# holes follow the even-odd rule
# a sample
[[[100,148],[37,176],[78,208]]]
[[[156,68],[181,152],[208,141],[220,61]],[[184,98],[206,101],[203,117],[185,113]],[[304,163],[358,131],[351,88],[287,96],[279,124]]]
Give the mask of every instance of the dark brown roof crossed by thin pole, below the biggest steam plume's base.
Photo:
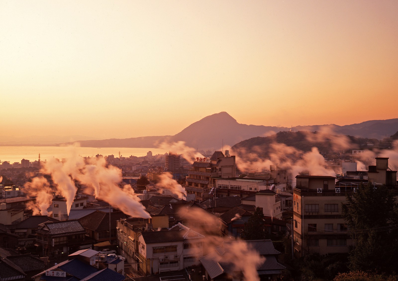
[[[111,212],[111,229],[116,229],[116,221],[121,218],[129,218],[129,216],[121,211]],[[109,230],[109,212],[96,210],[96,212],[80,218],[79,222],[84,228],[93,231],[106,231]]]

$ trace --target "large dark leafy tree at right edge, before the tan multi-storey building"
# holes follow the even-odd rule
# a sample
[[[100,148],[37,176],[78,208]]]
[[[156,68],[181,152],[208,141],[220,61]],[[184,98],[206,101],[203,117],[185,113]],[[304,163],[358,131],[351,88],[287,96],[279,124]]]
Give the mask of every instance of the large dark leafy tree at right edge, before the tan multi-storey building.
[[[395,197],[385,186],[361,185],[347,194],[342,214],[354,248],[349,253],[351,270],[392,272],[398,269],[398,212]]]

